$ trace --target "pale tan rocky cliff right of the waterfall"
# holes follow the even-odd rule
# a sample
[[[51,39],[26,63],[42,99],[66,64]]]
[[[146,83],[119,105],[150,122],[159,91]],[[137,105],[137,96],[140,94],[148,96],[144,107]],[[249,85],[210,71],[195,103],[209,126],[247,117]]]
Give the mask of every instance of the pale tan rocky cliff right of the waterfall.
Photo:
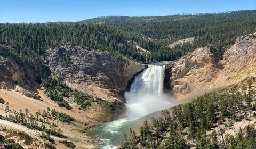
[[[166,68],[169,87],[178,98],[204,93],[255,76],[255,34],[238,37],[222,55],[206,46],[196,49]]]

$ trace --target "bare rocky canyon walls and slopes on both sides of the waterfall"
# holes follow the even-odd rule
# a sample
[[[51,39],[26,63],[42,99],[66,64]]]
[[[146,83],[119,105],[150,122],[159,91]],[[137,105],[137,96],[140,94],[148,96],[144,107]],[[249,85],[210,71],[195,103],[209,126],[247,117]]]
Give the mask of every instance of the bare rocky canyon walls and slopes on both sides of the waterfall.
[[[207,45],[195,49],[194,52],[188,53],[177,61],[167,62],[164,91],[178,102],[233,85],[248,77],[256,77],[255,35],[237,37],[235,44],[227,47],[223,52]],[[86,133],[100,123],[114,120],[124,113],[125,91],[130,90],[135,76],[148,68],[147,64],[140,64],[108,52],[92,51],[71,45],[47,49],[44,61],[51,73],[63,78],[65,84],[70,88],[101,100],[97,100],[81,110],[73,97],[65,97],[64,99],[72,109],[59,107],[44,94],[44,88],[40,85],[44,75],[41,71],[44,67],[43,64],[29,62],[20,65],[2,56],[0,56],[0,97],[10,104],[11,110],[25,111],[27,108],[31,113],[35,113],[38,109],[43,111],[49,107],[49,109],[72,115],[76,121],[71,123],[46,119],[50,122],[57,122],[58,128],[78,148],[95,147],[94,140],[86,136]],[[0,105],[2,105],[0,114],[5,120],[6,113],[13,113],[3,108],[6,103]],[[111,106],[116,108],[113,110]],[[23,137],[23,139],[15,139],[15,142],[20,143],[26,140],[35,145],[35,140],[37,140],[38,144],[41,144],[41,148],[47,148],[39,131],[27,130],[19,123],[10,125],[4,120],[1,120],[0,123],[6,127],[1,128],[4,130],[2,134],[5,136],[8,136],[6,132],[12,132],[5,129],[23,130],[34,139],[26,140],[27,137]],[[17,136],[17,138],[24,136],[17,133],[12,134],[9,136]],[[58,140],[63,140],[62,138],[52,137],[57,140],[55,146],[65,148],[58,142]],[[20,144],[25,148],[29,146],[29,143]]]

